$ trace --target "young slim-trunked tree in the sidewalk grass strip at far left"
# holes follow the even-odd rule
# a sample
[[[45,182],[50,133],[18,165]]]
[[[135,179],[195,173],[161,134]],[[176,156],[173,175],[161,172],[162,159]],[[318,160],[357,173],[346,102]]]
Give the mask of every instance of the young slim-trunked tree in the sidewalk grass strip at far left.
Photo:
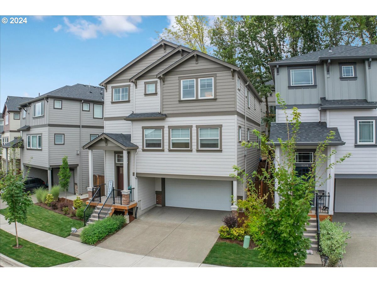
[[[33,204],[31,197],[23,190],[24,181],[25,178],[22,176],[22,172],[17,172],[16,169],[10,169],[7,173],[4,173],[0,180],[0,187],[2,188],[1,198],[8,205],[4,217],[9,224],[14,223],[16,229],[16,248],[19,248],[17,222],[25,223],[28,207]]]

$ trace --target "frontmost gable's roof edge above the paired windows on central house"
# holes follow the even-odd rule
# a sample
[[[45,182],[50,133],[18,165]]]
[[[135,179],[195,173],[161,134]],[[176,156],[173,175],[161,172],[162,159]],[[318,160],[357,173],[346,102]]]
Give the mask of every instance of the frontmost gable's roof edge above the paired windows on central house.
[[[175,68],[176,66],[178,66],[179,64],[185,62],[187,59],[191,58],[192,56],[201,56],[201,57],[204,57],[204,58],[207,58],[208,60],[211,60],[211,61],[214,61],[216,63],[219,63],[225,67],[228,67],[232,70],[236,70],[238,71],[241,76],[244,78],[244,80],[246,82],[249,83],[249,86],[251,88],[251,91],[254,92],[254,95],[257,97],[257,99],[259,100],[259,102],[263,102],[262,98],[259,96],[258,92],[256,91],[256,89],[254,88],[253,84],[250,82],[249,78],[247,77],[247,75],[244,73],[244,71],[242,71],[241,68],[235,66],[235,65],[232,65],[232,64],[229,64],[225,61],[222,61],[218,58],[215,58],[215,57],[212,57],[208,54],[205,54],[203,52],[200,52],[198,50],[194,50],[192,52],[190,52],[189,54],[187,54],[186,56],[182,57],[181,59],[179,59],[178,61],[174,62],[172,65],[170,65],[169,67],[165,68],[164,70],[162,70],[161,72],[159,72],[157,75],[156,75],[156,78],[158,77],[161,77],[162,75],[166,74],[167,72],[169,72],[171,69]]]

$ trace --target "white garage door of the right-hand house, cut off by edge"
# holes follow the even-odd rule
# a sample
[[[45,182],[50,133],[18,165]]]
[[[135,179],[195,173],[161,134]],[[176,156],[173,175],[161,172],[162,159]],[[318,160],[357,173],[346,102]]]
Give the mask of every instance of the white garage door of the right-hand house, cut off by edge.
[[[336,179],[335,212],[377,212],[377,179]]]

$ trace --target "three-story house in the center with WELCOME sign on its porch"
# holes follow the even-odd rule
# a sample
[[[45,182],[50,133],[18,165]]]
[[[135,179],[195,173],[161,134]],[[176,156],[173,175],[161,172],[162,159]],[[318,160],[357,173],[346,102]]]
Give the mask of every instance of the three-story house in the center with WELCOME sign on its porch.
[[[257,169],[260,150],[241,141],[257,141],[262,100],[241,69],[162,40],[100,85],[104,134],[84,148],[105,151],[106,186],[135,188],[138,214],[155,205],[231,211],[231,195],[245,197],[229,174]]]

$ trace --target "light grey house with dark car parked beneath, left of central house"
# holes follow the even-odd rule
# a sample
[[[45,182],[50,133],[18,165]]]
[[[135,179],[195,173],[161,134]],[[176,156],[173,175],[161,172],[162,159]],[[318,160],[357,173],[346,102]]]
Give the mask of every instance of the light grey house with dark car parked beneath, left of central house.
[[[29,99],[20,104],[21,161],[29,177],[59,183],[59,167],[68,157],[71,181],[68,191],[87,193],[88,152],[81,149],[103,132],[103,95],[99,86],[76,84]],[[103,152],[93,153],[92,174],[103,174]]]

